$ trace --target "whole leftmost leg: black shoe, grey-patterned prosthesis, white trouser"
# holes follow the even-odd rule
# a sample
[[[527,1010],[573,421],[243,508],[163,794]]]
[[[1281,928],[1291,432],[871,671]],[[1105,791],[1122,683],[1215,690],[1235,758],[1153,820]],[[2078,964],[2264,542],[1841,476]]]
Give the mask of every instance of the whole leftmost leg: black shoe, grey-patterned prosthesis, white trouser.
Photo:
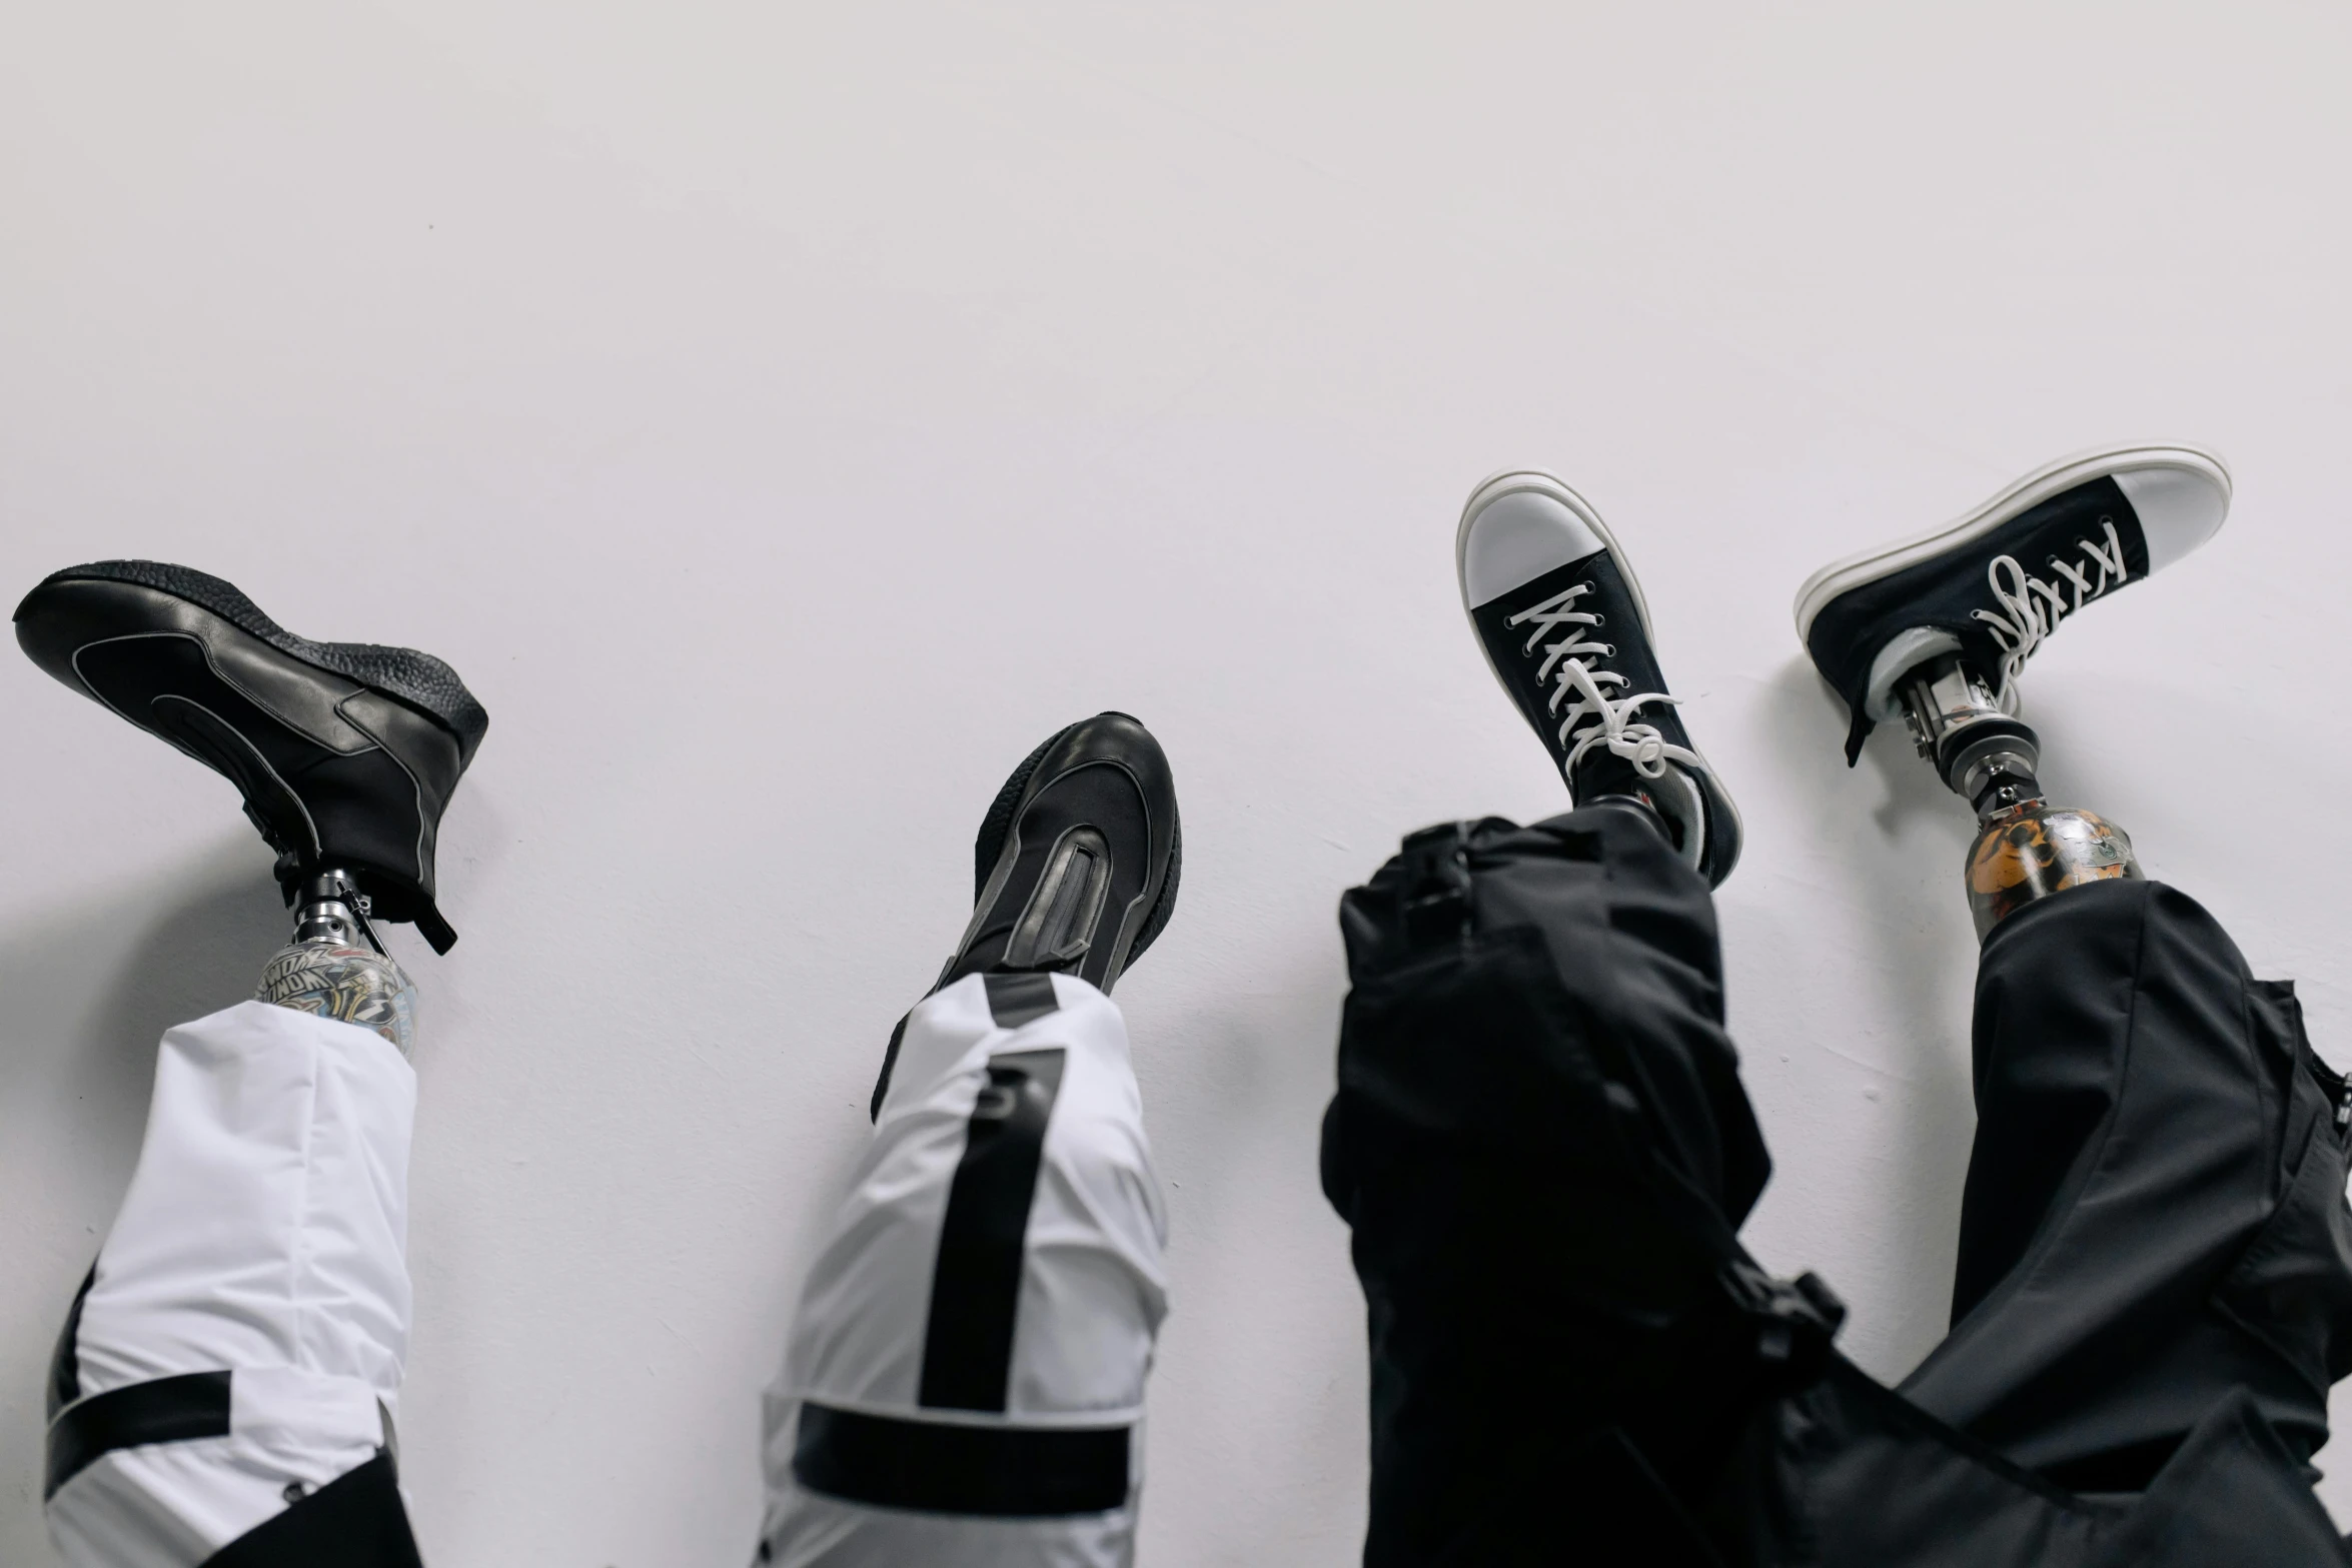
[[[16,639],[235,783],[294,910],[252,1001],[162,1037],[56,1345],[52,1540],[73,1568],[416,1568],[393,1458],[416,990],[374,922],[456,940],[433,851],[489,717],[428,654],[299,637],[162,562],[49,576]]]

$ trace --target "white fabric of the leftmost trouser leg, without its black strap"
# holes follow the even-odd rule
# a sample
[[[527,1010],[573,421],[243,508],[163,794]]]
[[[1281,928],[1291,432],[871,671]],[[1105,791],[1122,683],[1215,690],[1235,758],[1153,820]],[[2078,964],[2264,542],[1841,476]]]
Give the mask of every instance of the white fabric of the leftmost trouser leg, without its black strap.
[[[414,1119],[416,1074],[374,1030],[242,1001],[162,1037],[61,1371],[82,1406],[226,1371],[230,1429],[82,1467],[49,1497],[66,1563],[193,1568],[376,1455],[407,1354]]]

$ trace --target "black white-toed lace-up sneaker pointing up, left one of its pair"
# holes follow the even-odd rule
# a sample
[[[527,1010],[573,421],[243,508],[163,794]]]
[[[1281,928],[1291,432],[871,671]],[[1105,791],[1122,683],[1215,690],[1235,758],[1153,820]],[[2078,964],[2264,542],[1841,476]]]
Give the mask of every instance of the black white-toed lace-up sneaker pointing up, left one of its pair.
[[[1649,604],[1599,512],[1541,470],[1498,473],[1454,541],[1463,609],[1569,797],[1637,795],[1710,886],[1740,858],[1740,813],[1691,745],[1651,646]]]

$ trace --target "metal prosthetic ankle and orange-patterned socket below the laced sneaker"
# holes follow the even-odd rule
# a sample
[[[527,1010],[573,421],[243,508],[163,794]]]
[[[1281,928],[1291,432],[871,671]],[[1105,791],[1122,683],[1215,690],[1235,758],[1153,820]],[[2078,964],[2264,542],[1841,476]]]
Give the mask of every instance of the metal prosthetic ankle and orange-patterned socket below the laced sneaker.
[[[2140,875],[2131,835],[2093,811],[2044,799],[2034,778],[2039,738],[2002,710],[1969,661],[1947,654],[1924,663],[1898,691],[1919,755],[1976,806],[1983,825],[1969,849],[1969,914],[1978,940],[2037,898]]]

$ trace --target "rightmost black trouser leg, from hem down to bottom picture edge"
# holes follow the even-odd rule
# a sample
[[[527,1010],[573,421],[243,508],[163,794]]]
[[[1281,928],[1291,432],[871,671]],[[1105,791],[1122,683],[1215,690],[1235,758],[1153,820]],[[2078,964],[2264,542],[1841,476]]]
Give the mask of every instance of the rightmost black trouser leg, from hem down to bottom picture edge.
[[[1985,943],[1976,1103],[1952,1335],[1783,1410],[1799,1561],[2352,1563],[2307,1472],[2352,1366],[2345,1084],[2291,987],[2173,889],[2056,893]]]

